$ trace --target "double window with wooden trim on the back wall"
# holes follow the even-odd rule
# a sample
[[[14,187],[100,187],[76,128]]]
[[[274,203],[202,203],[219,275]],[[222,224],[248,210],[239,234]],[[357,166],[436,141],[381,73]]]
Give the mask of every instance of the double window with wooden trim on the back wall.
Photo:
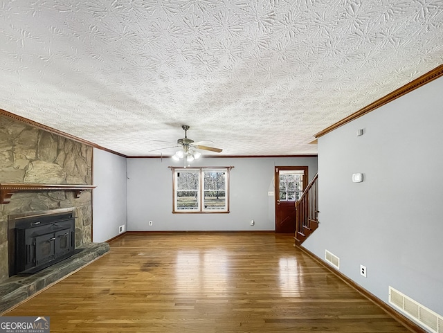
[[[229,213],[229,168],[172,168],[172,213]]]

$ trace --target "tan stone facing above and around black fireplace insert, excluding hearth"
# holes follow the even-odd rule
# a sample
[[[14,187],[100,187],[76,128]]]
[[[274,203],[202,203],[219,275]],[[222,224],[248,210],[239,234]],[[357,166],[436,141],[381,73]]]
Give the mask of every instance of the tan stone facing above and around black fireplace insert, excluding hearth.
[[[93,147],[89,145],[0,112],[0,183],[91,185],[92,153]],[[92,241],[91,190],[84,190],[80,195],[71,190],[16,192],[9,203],[0,204],[0,282],[10,278],[10,215],[33,215],[64,208],[73,210],[75,216],[75,249],[87,246]]]

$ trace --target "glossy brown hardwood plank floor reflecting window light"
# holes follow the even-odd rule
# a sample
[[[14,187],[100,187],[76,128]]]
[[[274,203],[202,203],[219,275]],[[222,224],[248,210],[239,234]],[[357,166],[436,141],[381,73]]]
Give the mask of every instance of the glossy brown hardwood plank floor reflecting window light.
[[[3,315],[51,332],[410,332],[273,233],[126,234]]]

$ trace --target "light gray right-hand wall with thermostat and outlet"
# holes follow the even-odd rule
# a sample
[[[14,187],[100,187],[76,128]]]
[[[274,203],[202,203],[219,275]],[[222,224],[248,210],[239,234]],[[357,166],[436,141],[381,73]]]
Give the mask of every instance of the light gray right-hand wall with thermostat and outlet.
[[[304,244],[322,259],[325,249],[337,255],[342,273],[386,303],[390,285],[438,314],[442,92],[440,78],[319,138],[320,227]],[[363,183],[352,183],[356,172]]]

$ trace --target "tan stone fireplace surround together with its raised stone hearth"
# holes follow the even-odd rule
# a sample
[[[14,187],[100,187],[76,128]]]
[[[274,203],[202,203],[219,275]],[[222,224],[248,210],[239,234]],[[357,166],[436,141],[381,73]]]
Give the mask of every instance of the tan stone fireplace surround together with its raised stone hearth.
[[[93,188],[93,147],[29,123],[0,110],[0,183],[60,188],[15,192],[0,204],[0,313],[109,251],[106,243],[92,243],[92,190],[87,188]],[[63,188],[79,185],[85,190]],[[8,216],[60,208],[75,211],[75,249],[84,250],[31,276],[9,277]]]

